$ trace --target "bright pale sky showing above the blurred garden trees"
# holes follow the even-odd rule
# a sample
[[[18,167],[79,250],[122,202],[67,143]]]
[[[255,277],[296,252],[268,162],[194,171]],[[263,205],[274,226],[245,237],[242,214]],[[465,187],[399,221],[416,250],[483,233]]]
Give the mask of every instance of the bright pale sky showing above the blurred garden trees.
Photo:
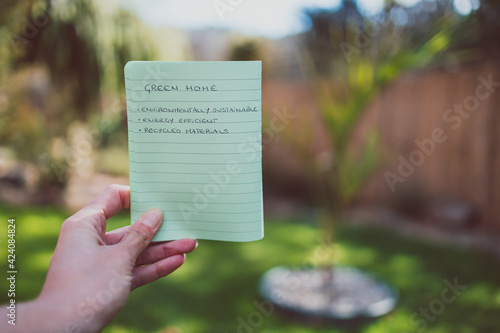
[[[411,7],[420,1],[397,0]],[[338,8],[341,0],[120,0],[151,26],[180,29],[229,28],[250,36],[280,38],[306,29],[304,8]],[[358,0],[365,16],[379,13],[384,0]],[[458,13],[467,15],[479,0],[454,0]]]

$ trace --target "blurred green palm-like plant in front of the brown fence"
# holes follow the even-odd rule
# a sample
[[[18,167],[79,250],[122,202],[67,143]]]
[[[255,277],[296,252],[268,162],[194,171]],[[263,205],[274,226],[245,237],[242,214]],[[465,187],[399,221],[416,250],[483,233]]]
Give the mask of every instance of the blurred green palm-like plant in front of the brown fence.
[[[395,27],[386,24],[373,36],[372,43],[393,35]],[[313,199],[320,208],[319,220],[327,241],[333,241],[335,222],[339,215],[358,195],[374,170],[383,162],[375,130],[364,133],[358,147],[353,147],[353,133],[369,104],[381,90],[403,73],[422,68],[432,63],[436,55],[447,50],[451,34],[456,26],[439,26],[424,42],[412,48],[391,47],[391,52],[375,45],[373,49],[358,49],[349,59],[336,59],[332,64],[322,66],[333,68],[331,74],[318,74],[314,65],[308,66],[313,73],[311,90],[319,112],[323,130],[329,138],[329,149],[317,154],[314,149],[316,131],[313,126],[305,134],[287,133],[288,142],[296,148],[297,156],[307,170]],[[350,36],[355,38],[356,36]],[[373,51],[376,51],[375,53]],[[337,70],[335,70],[337,69]],[[309,117],[302,123],[314,123],[314,114],[300,114]],[[307,128],[307,127],[306,127]],[[329,259],[333,264],[333,258]]]

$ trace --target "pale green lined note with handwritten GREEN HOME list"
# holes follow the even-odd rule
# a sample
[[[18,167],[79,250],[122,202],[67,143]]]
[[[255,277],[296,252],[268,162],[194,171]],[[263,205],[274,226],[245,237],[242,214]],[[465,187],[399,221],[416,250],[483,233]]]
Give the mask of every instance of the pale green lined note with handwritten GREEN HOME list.
[[[163,211],[154,241],[264,236],[260,61],[125,66],[131,219]]]

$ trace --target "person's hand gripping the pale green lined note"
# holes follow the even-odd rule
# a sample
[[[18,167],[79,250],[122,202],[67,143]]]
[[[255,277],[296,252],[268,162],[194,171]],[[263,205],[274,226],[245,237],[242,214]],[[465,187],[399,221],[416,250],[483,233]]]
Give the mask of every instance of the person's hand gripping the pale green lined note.
[[[106,233],[106,220],[129,205],[130,188],[111,185],[63,223],[41,294],[18,308],[20,332],[99,332],[131,290],[184,263],[195,240],[150,245],[163,220],[159,209]]]

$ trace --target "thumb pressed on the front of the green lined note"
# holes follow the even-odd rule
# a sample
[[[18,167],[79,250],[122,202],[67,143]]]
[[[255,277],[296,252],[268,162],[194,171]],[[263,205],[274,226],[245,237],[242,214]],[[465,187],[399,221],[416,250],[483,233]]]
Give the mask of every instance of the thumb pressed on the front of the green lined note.
[[[148,247],[163,221],[163,213],[158,208],[145,212],[130,226],[125,236],[120,241],[120,246],[125,247],[133,261]]]

